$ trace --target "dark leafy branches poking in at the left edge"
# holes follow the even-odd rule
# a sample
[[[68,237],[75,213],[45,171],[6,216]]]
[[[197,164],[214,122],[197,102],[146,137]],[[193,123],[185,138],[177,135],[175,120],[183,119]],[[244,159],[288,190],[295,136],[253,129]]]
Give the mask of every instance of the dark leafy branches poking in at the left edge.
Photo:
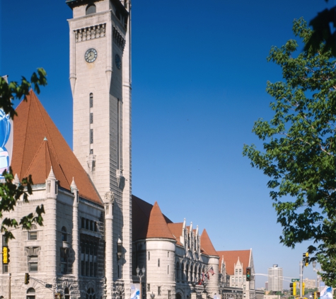
[[[30,81],[22,77],[20,84],[16,81],[7,83],[3,77],[0,77],[0,108],[13,119],[17,115],[13,108],[13,100],[20,100],[23,96],[28,95],[31,86],[34,87],[37,94],[40,94],[40,86],[47,85],[46,76],[45,70],[39,68],[37,69],[37,73],[33,73]],[[27,101],[26,98],[24,99]],[[0,183],[0,218],[3,218],[4,212],[14,210],[16,202],[20,198],[28,202],[28,196],[33,193],[31,176],[23,178],[18,186],[13,184],[14,176],[11,169],[9,172],[4,171],[3,176],[5,178],[4,182]],[[10,231],[11,228],[20,226],[23,229],[29,230],[33,222],[42,225],[42,213],[45,213],[45,211],[43,205],[40,205],[37,206],[35,213],[30,213],[20,220],[4,218],[1,222],[1,232],[4,233],[6,238],[13,239],[13,234]]]

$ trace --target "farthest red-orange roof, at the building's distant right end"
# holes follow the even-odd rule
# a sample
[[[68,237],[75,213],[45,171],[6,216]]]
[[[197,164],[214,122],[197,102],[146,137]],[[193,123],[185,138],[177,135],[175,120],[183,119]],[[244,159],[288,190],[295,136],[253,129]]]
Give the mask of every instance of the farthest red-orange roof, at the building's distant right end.
[[[250,266],[250,253],[251,249],[248,250],[231,250],[217,252],[219,255],[219,271],[221,271],[221,260],[224,256],[224,262],[226,266],[226,273],[228,275],[234,274],[234,264],[237,264],[238,258],[243,264],[243,274],[246,274],[246,267]]]

